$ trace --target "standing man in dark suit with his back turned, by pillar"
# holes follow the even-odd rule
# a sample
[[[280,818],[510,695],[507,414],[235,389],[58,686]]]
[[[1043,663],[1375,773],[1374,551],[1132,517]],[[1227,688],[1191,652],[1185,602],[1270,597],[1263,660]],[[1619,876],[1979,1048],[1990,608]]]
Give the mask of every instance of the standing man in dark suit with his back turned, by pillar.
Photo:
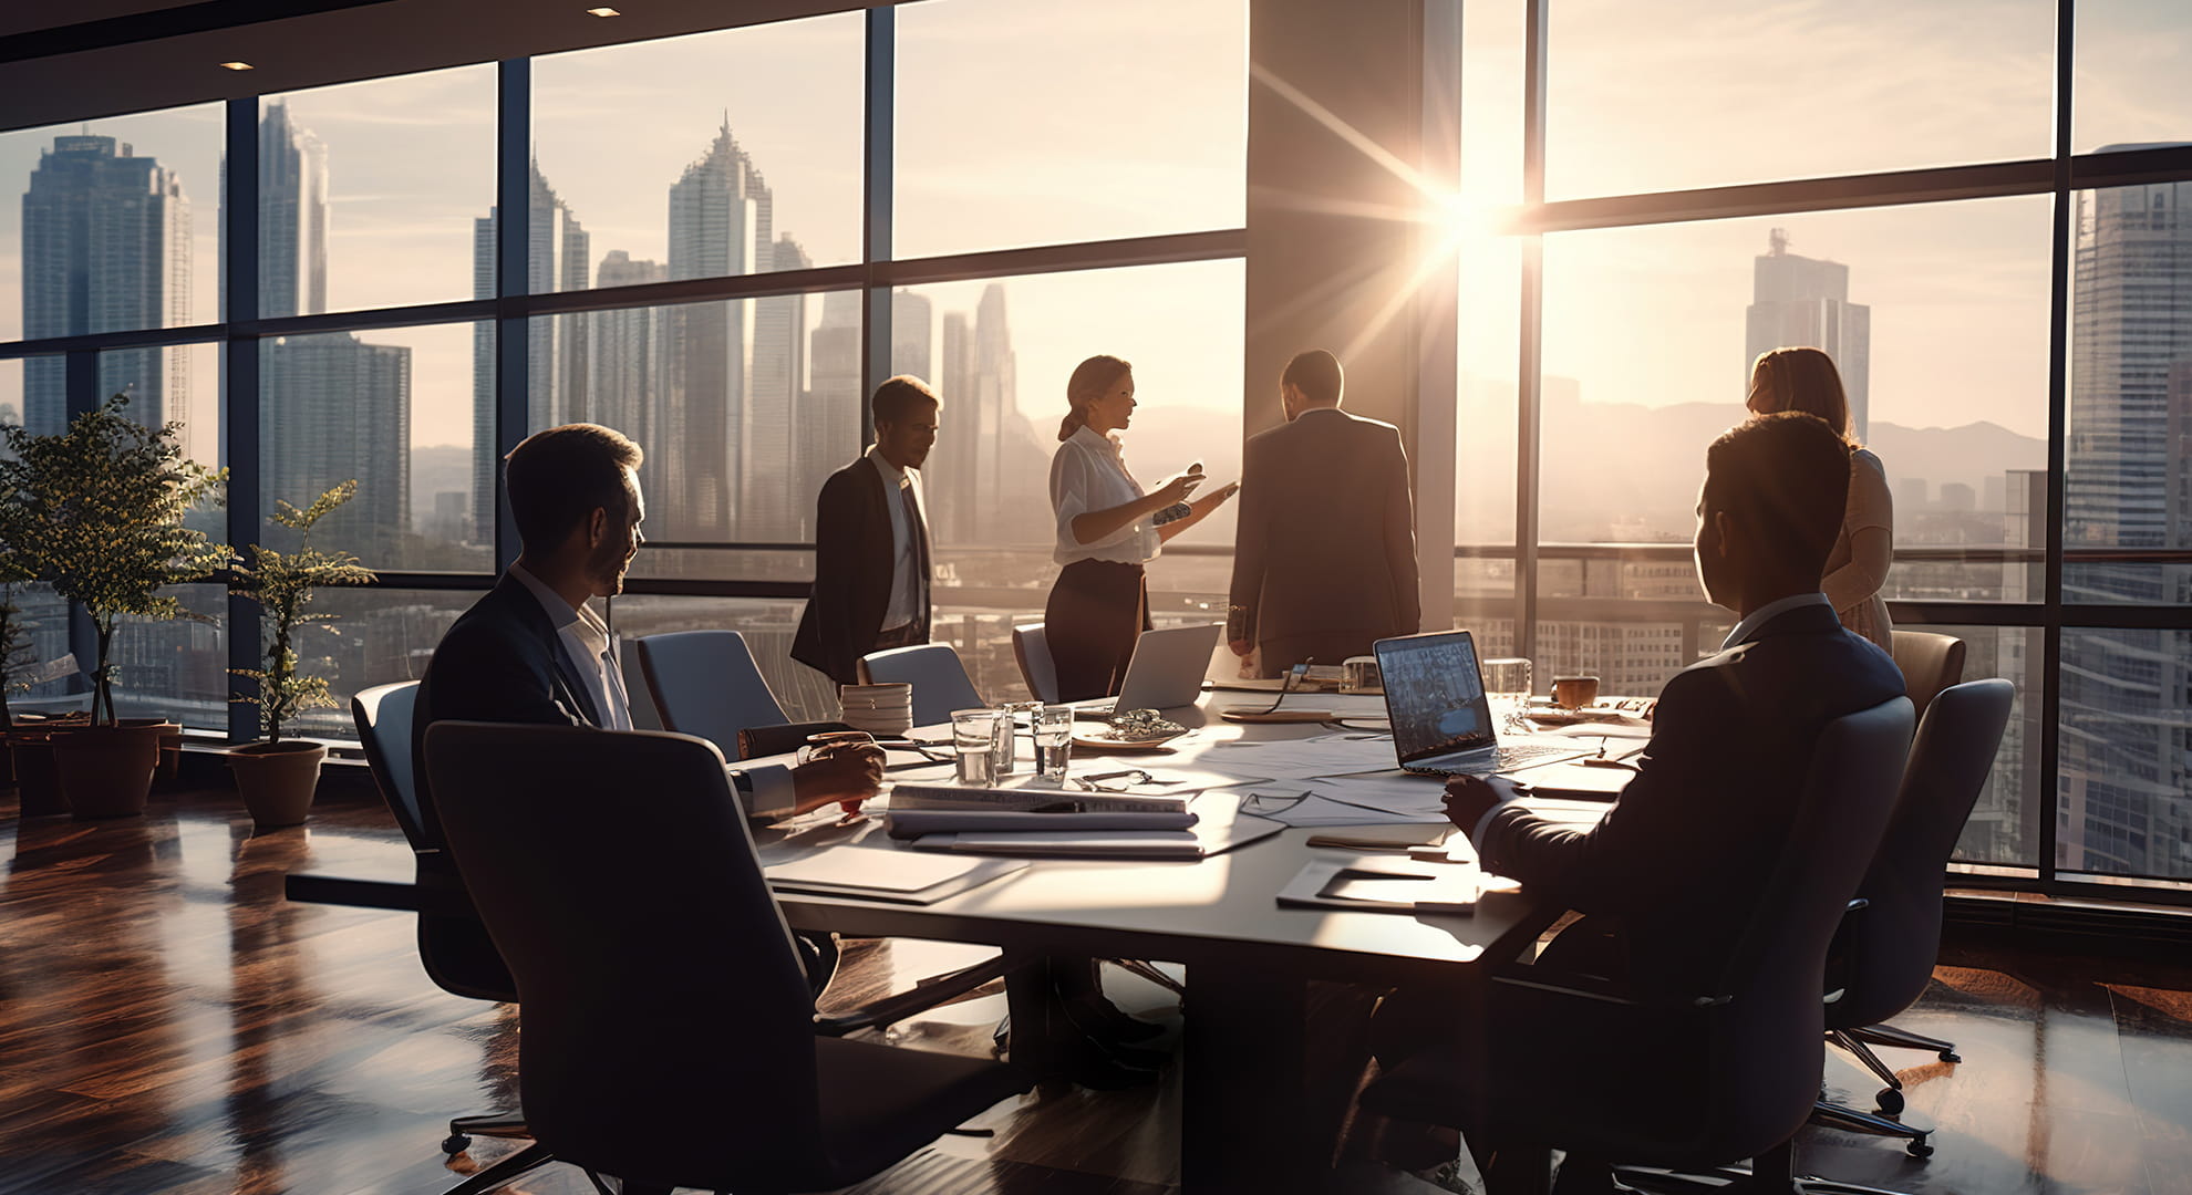
[[[1278,384],[1287,423],[1247,441],[1225,638],[1260,649],[1263,675],[1368,656],[1423,618],[1401,432],[1339,410],[1344,386],[1339,357],[1300,353]]]

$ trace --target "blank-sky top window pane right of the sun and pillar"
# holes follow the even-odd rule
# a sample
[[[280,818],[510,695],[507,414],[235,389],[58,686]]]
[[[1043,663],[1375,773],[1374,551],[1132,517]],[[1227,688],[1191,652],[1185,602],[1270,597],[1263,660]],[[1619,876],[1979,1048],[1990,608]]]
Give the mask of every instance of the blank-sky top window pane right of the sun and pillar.
[[[1545,195],[2045,158],[2050,0],[1559,0]]]

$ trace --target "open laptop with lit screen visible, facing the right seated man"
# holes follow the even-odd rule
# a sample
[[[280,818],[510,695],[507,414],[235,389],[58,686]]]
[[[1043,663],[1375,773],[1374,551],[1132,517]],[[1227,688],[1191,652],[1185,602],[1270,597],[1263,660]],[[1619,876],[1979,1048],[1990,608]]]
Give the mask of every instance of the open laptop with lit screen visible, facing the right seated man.
[[[1385,715],[1401,767],[1425,776],[1491,776],[1591,754],[1585,748],[1499,746],[1469,631],[1381,638],[1372,647],[1385,678]]]

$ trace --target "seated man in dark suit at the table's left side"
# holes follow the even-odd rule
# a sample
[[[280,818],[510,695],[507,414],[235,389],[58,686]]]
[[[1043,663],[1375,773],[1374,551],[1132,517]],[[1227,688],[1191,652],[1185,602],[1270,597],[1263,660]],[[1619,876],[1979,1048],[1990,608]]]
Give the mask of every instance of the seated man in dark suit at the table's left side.
[[[609,428],[570,423],[517,445],[504,467],[522,555],[467,610],[419,682],[412,761],[427,835],[438,842],[436,796],[425,774],[425,728],[438,719],[530,721],[631,730],[616,645],[587,599],[625,588],[640,550],[640,445]],[[866,800],[883,778],[877,748],[846,750],[785,770],[734,772],[754,818]],[[603,794],[605,816],[616,800]]]

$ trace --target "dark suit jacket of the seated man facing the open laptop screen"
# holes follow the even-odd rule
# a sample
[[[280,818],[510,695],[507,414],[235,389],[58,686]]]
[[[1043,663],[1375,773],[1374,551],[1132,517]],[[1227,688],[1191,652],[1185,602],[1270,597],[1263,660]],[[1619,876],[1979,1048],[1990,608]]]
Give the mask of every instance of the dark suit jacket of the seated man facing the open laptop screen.
[[[1675,673],[1637,776],[1596,829],[1508,805],[1484,822],[1477,857],[1594,914],[1637,991],[1699,995],[1767,886],[1819,732],[1900,695],[1894,660],[1841,629],[1833,607],[1786,610]]]

